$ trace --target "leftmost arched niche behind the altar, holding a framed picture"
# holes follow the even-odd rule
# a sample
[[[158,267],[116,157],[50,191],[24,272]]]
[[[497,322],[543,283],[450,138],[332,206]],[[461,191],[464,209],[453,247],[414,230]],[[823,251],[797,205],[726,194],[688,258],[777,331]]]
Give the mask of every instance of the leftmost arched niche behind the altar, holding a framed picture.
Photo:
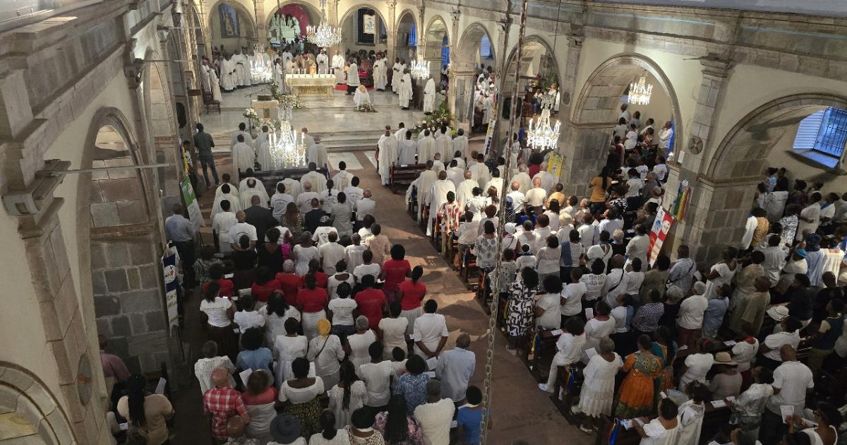
[[[255,14],[241,3],[219,0],[209,8],[208,16],[212,46],[216,50],[223,47],[223,53],[232,54],[256,42]]]

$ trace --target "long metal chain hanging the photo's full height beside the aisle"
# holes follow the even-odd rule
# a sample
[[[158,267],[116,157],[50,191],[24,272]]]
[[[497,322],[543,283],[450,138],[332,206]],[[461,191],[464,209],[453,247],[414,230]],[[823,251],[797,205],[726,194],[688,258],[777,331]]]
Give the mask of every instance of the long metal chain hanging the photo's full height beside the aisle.
[[[523,5],[521,7],[521,21],[520,28],[518,29],[518,60],[516,62],[515,69],[515,86],[512,90],[512,103],[509,104],[509,107],[512,108],[509,111],[509,132],[507,133],[507,147],[501,153],[505,155],[506,165],[503,167],[503,174],[507,175],[508,172],[512,168],[512,133],[514,132],[515,125],[515,104],[518,102],[518,82],[521,78],[521,59],[523,58],[523,34],[526,31],[526,19],[527,19],[527,8],[529,1],[523,0]],[[505,49],[505,48],[504,48]],[[505,53],[505,51],[504,51]],[[507,61],[508,62],[508,61]],[[508,64],[504,65],[504,69],[508,70]],[[505,76],[505,73],[504,73]],[[504,82],[505,85],[505,82]],[[508,192],[507,184],[505,183],[508,179],[504,179],[504,184],[501,187],[500,191],[500,203],[501,203],[501,212],[497,221],[497,242],[495,244],[496,250],[495,252],[500,253],[501,243],[503,240],[503,228],[506,225],[506,212],[503,203],[506,203],[506,195]],[[497,263],[494,269],[494,280],[491,282],[491,305],[490,305],[490,318],[488,320],[488,349],[485,351],[485,381],[483,387],[483,406],[484,406],[484,415],[482,421],[479,422],[480,431],[482,435],[480,436],[480,445],[485,445],[488,441],[488,422],[490,421],[490,413],[491,413],[491,377],[494,373],[494,339],[496,337],[497,330],[497,309],[499,309],[500,304],[500,281],[501,281],[501,270],[503,268],[503,259],[501,255],[497,255]],[[485,295],[485,283],[480,283],[480,286],[483,286],[483,298]]]

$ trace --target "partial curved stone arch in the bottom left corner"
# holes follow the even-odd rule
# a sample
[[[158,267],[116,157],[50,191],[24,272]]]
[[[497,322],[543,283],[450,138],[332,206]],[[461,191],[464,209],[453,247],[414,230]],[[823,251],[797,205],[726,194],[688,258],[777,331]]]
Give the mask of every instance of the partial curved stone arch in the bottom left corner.
[[[4,361],[0,361],[0,412],[14,422],[14,427],[3,431],[0,442],[30,443],[37,437],[51,445],[80,443],[68,414],[47,385],[30,371]]]

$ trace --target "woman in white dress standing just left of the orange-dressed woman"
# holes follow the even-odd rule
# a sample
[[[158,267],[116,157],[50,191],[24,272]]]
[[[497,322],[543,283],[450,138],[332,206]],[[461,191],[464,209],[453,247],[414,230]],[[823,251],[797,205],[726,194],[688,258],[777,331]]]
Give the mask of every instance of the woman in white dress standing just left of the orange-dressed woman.
[[[597,428],[595,420],[601,414],[612,414],[615,398],[615,375],[623,366],[621,356],[614,352],[615,342],[609,338],[600,341],[600,353],[592,357],[584,371],[584,383],[579,393],[579,410],[585,420],[579,429],[592,434]]]

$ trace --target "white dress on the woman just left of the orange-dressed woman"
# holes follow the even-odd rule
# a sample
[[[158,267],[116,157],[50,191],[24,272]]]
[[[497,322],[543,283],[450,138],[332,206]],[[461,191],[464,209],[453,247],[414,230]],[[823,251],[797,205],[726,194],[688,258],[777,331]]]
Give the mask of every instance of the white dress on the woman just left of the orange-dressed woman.
[[[579,410],[590,417],[612,414],[615,397],[615,375],[623,366],[621,356],[615,353],[611,362],[598,353],[585,367],[582,392],[579,394]]]

